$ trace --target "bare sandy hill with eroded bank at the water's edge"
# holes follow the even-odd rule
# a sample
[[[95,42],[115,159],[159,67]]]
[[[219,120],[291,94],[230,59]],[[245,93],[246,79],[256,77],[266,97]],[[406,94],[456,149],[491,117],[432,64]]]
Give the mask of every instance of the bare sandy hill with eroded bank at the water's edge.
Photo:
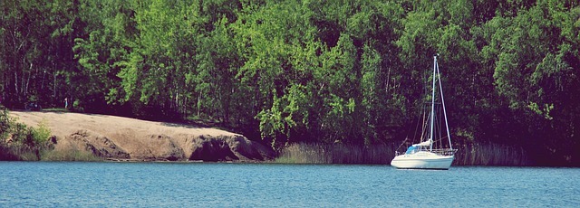
[[[30,127],[46,122],[55,150],[88,151],[129,160],[255,161],[274,157],[272,149],[239,134],[134,118],[71,112],[12,111]]]

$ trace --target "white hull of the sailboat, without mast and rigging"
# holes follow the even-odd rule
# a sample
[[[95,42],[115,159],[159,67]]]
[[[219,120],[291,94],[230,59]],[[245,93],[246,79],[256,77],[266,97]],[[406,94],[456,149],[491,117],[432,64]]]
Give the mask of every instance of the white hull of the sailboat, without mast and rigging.
[[[447,170],[454,156],[441,156],[432,152],[420,151],[410,155],[395,156],[391,165],[398,169],[440,169]]]

